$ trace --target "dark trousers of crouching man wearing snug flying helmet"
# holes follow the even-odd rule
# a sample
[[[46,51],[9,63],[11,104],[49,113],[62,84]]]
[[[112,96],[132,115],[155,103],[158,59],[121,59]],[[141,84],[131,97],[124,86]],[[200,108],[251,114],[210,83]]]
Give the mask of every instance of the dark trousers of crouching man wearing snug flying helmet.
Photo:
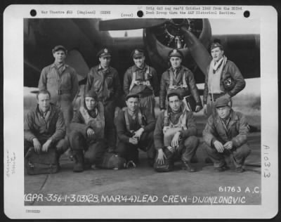
[[[89,141],[75,129],[70,133],[70,146],[74,155],[79,150],[84,151],[84,162],[87,164],[99,164],[105,153],[103,141]]]

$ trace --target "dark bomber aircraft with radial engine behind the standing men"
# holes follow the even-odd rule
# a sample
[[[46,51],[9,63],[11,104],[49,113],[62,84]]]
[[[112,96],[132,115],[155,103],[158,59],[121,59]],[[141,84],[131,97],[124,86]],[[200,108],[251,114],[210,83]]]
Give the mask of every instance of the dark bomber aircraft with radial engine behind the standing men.
[[[143,29],[141,37],[114,38],[108,32],[137,29]],[[159,75],[169,67],[168,52],[178,48],[185,57],[183,65],[195,73],[197,83],[202,83],[213,41],[224,46],[228,59],[235,61],[244,78],[260,77],[259,39],[259,34],[214,35],[208,19],[28,18],[24,21],[24,85],[37,87],[41,69],[53,62],[51,49],[59,44],[67,48],[66,63],[77,70],[79,80],[98,63],[96,53],[107,46],[112,50],[111,65],[121,80],[132,63],[130,54],[134,48],[145,49],[148,64]]]

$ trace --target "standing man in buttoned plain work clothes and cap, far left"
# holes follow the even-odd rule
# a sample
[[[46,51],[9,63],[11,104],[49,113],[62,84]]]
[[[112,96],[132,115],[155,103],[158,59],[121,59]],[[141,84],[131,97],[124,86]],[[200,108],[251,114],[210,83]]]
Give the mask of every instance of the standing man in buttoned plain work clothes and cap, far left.
[[[66,56],[67,49],[64,46],[53,48],[55,62],[42,70],[38,88],[39,91],[48,90],[51,93],[51,103],[60,107],[68,131],[73,116],[72,100],[79,89],[79,84],[77,72],[65,64]]]

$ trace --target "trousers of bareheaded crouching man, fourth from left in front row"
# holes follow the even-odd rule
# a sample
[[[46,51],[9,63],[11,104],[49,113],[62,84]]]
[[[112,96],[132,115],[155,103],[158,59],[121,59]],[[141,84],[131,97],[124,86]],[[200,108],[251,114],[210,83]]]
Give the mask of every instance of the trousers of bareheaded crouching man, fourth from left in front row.
[[[174,162],[181,159],[183,162],[191,162],[192,157],[195,155],[197,147],[199,144],[199,139],[196,136],[189,136],[184,141],[180,142],[178,149],[175,149],[174,152],[170,152],[168,148],[164,147],[163,152],[166,156],[164,165],[174,164]],[[155,157],[155,169],[161,166],[157,163],[157,156]],[[168,167],[172,170],[173,167]]]

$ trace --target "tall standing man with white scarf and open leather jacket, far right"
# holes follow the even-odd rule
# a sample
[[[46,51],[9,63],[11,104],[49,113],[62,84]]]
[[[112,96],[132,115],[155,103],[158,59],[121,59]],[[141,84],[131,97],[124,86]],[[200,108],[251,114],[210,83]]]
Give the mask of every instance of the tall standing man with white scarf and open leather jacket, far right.
[[[232,98],[244,89],[246,83],[235,63],[224,55],[223,46],[211,44],[211,63],[207,67],[204,86],[204,113],[208,117],[216,112],[214,103],[221,96]]]

